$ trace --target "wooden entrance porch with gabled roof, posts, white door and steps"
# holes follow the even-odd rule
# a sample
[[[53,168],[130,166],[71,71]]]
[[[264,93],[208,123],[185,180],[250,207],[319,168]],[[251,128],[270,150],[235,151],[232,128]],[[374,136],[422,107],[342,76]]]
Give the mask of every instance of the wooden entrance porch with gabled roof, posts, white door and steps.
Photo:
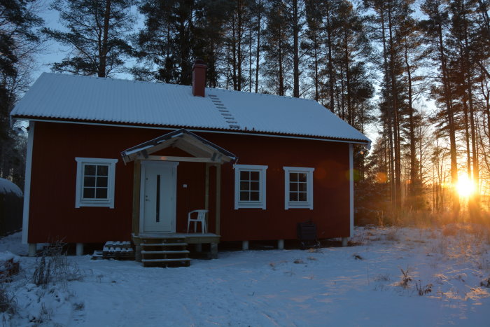
[[[178,148],[190,156],[151,155],[166,148]],[[221,237],[221,165],[235,161],[237,157],[187,130],[165,134],[129,148],[121,155],[125,163],[134,162],[132,241],[136,246],[136,260],[144,265],[188,265],[190,244],[194,244],[197,252],[202,252],[202,244],[209,244],[207,257],[217,258]],[[203,169],[200,178],[204,183],[199,188],[194,188],[199,193],[200,200],[191,207],[188,182],[177,181],[179,164],[187,165],[183,176],[189,173],[189,165],[195,167],[191,169],[193,174],[200,170],[199,167]],[[213,214],[210,211],[207,216],[207,225],[208,228],[212,226],[212,232],[183,232],[188,211],[196,209],[193,206],[199,207],[197,209],[210,209],[211,169],[214,169],[216,178],[215,203]],[[181,193],[177,185],[181,188]],[[187,199],[183,205],[179,199],[182,199],[184,193]],[[177,205],[178,203],[180,204]],[[183,221],[184,218],[186,221]]]

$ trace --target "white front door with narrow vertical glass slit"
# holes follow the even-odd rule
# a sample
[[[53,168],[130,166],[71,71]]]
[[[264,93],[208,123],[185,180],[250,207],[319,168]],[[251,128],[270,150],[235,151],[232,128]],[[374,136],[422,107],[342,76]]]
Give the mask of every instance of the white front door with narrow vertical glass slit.
[[[179,162],[141,162],[140,230],[143,232],[175,232],[177,165]]]

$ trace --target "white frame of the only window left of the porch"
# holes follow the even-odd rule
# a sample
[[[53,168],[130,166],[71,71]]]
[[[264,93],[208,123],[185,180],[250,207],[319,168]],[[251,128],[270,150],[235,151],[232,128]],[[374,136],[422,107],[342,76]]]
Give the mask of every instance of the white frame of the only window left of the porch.
[[[118,159],[106,158],[79,158],[76,157],[76,194],[75,207],[109,207],[114,208],[114,188],[116,176],[116,162]],[[95,200],[83,198],[83,165],[109,165],[107,173],[107,199]]]

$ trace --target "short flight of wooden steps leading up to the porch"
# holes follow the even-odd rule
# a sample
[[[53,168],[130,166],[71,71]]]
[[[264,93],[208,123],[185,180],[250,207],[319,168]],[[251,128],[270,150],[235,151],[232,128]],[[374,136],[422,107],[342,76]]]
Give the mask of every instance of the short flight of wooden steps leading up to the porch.
[[[185,239],[181,237],[143,237],[141,262],[145,267],[189,266],[187,245]]]

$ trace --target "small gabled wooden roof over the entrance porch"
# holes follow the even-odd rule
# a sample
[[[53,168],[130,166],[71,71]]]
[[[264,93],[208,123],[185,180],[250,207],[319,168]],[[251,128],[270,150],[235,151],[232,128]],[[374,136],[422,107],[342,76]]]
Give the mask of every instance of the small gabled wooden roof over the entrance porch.
[[[238,157],[230,151],[226,151],[224,148],[185,129],[176,130],[162,135],[161,137],[138,144],[137,146],[133,146],[132,148],[127,148],[125,151],[121,152],[121,157],[123,157],[125,164],[134,160],[170,160],[174,157],[162,156],[153,158],[155,156],[151,156],[151,153],[155,153],[170,146],[180,148],[196,157],[195,160],[189,161],[223,163],[238,160]],[[186,157],[179,158],[184,160]],[[179,160],[176,158],[176,161]]]

